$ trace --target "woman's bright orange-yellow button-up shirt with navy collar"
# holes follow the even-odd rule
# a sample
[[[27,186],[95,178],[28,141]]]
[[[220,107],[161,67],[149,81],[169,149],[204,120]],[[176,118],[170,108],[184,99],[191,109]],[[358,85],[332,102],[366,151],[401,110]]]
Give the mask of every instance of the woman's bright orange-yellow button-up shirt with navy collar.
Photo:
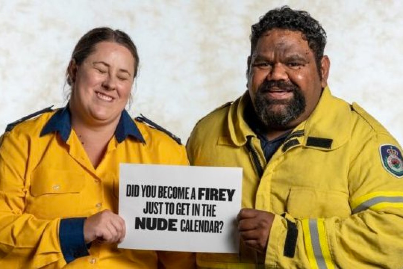
[[[61,219],[88,217],[104,209],[117,213],[119,163],[187,165],[188,161],[183,146],[144,123],[134,123],[123,111],[121,119],[125,116],[126,124],[119,122],[104,158],[94,169],[70,126],[69,115],[57,118],[56,113],[44,113],[3,135],[0,268],[193,268],[191,253],[118,249],[116,244],[96,243],[89,248],[89,256],[66,263],[59,238]],[[55,130],[56,125],[60,126]],[[127,136],[133,132],[134,137]]]

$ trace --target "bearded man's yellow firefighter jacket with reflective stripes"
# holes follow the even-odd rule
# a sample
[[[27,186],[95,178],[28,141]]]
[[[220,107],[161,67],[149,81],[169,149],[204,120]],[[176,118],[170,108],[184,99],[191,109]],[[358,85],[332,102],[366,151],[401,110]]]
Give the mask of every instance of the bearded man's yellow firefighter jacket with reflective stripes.
[[[239,255],[197,254],[198,267],[402,268],[403,162],[384,127],[326,87],[266,163],[247,102],[245,93],[199,121],[187,152],[192,165],[243,167],[242,207],[275,214],[264,265],[241,244]]]

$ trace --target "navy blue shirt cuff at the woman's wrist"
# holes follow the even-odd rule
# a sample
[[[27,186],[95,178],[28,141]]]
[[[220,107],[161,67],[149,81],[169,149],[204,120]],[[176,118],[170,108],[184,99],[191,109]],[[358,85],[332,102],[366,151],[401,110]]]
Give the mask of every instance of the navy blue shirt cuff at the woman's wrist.
[[[88,256],[88,248],[84,241],[85,218],[61,219],[59,226],[60,248],[66,263],[77,258]]]

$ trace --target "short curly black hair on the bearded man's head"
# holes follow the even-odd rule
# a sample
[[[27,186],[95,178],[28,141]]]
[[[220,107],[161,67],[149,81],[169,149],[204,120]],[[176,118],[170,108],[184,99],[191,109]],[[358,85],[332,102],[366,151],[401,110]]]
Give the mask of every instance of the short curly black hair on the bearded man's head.
[[[289,6],[270,10],[263,17],[260,17],[258,23],[252,25],[250,36],[251,56],[256,49],[259,38],[274,28],[300,31],[314,53],[316,66],[319,71],[320,60],[323,57],[326,46],[326,32],[320,23],[312,18],[309,13],[302,10],[293,10]]]

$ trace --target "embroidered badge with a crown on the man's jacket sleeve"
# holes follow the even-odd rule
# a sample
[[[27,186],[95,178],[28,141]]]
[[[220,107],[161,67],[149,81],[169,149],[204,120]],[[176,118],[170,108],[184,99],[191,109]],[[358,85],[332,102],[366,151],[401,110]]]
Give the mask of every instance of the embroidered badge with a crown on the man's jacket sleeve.
[[[388,144],[381,145],[379,152],[382,165],[386,171],[395,177],[403,177],[403,158],[399,148]]]

